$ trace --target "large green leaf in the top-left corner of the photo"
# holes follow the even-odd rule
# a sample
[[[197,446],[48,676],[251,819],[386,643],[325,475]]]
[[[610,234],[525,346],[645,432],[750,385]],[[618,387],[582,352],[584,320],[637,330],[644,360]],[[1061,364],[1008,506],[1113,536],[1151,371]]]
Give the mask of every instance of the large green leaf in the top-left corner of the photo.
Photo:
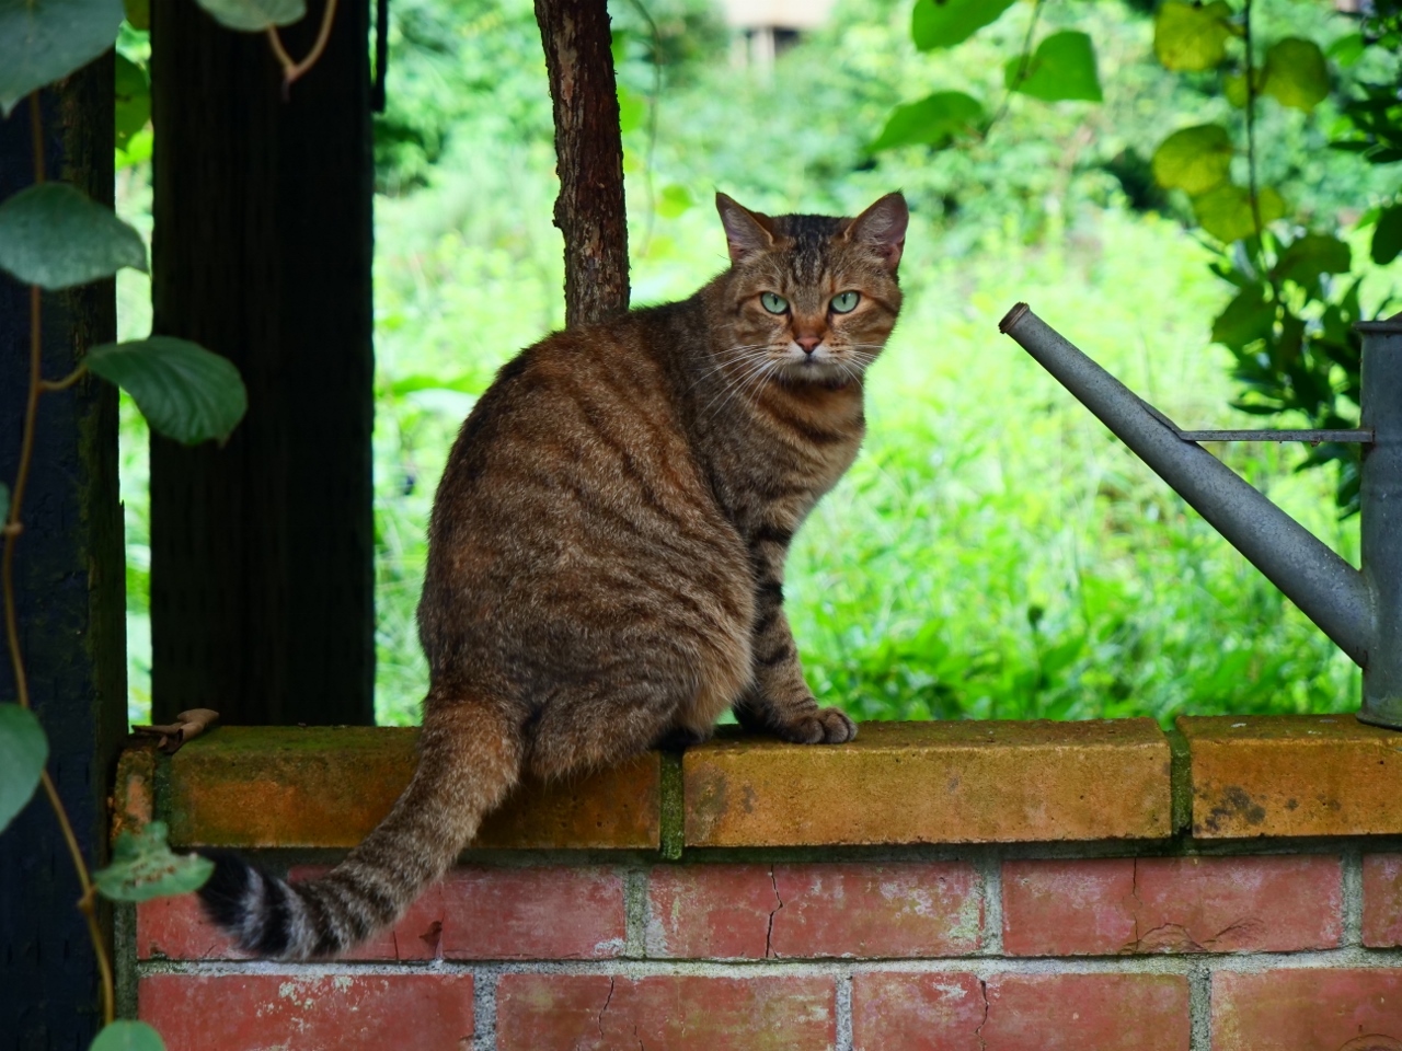
[[[0,115],[112,46],[122,0],[0,1]]]

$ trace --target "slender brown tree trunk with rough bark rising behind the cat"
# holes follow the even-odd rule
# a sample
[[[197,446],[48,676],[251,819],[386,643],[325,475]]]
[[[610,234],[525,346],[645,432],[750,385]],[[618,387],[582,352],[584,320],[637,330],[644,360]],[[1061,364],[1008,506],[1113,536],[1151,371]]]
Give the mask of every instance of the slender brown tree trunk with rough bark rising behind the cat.
[[[604,0],[536,0],[536,21],[555,105],[565,324],[603,321],[628,310],[628,221],[608,7]]]

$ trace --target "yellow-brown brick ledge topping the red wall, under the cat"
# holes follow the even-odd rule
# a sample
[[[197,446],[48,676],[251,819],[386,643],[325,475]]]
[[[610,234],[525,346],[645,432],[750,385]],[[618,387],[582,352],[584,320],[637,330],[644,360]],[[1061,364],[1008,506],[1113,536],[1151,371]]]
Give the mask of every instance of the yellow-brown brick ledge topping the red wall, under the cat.
[[[412,729],[222,727],[123,753],[118,830],[178,846],[348,848],[414,769]],[[722,733],[573,783],[524,785],[494,849],[862,846],[1402,834],[1402,734],[1352,716],[866,723],[852,744]]]

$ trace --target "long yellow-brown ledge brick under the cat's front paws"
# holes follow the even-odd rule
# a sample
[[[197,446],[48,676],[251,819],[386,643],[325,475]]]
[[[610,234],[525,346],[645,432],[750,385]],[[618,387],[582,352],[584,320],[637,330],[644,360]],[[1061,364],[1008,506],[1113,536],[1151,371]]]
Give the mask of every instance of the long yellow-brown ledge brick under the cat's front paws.
[[[1150,719],[729,739],[688,751],[683,776],[691,846],[1152,839],[1172,825],[1168,740]]]

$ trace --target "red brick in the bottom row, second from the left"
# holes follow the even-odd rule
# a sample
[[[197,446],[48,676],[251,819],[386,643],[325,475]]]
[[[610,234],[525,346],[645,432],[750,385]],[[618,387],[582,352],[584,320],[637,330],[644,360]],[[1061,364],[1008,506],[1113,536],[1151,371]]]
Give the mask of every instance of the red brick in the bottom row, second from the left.
[[[837,995],[827,977],[508,974],[496,988],[498,1051],[831,1051],[836,1044]]]

